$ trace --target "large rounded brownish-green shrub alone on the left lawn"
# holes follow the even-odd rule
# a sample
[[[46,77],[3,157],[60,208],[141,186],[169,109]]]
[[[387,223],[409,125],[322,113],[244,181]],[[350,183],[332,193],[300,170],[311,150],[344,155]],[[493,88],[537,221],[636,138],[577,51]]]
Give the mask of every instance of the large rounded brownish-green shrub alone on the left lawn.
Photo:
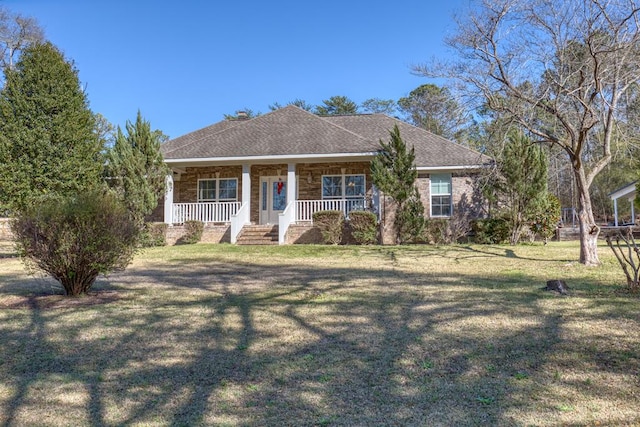
[[[140,229],[114,195],[46,198],[11,223],[27,266],[56,279],[67,295],[87,293],[99,274],[124,269]]]

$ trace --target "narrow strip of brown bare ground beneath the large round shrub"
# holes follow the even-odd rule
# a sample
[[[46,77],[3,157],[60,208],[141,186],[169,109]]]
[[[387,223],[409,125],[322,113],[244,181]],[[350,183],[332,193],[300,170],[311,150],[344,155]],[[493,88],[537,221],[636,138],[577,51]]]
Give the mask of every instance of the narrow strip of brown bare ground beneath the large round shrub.
[[[118,301],[122,295],[118,291],[89,292],[79,297],[66,295],[0,295],[0,308],[51,310],[69,307],[89,307]]]

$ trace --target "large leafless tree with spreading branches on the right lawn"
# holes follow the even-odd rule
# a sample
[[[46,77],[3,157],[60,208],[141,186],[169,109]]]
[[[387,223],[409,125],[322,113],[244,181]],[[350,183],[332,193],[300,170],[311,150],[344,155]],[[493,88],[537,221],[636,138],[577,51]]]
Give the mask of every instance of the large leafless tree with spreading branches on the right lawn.
[[[611,162],[623,97],[640,79],[638,0],[480,0],[447,42],[454,63],[415,67],[567,153],[580,262],[599,264],[589,188]]]

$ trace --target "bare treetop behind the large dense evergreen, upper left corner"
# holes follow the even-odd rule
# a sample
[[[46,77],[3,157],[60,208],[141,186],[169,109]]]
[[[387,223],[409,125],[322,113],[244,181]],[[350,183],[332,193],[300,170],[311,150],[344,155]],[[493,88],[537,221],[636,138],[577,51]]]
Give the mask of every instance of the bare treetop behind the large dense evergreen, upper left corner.
[[[30,43],[44,41],[44,31],[34,18],[0,7],[0,66],[12,67],[16,56]]]

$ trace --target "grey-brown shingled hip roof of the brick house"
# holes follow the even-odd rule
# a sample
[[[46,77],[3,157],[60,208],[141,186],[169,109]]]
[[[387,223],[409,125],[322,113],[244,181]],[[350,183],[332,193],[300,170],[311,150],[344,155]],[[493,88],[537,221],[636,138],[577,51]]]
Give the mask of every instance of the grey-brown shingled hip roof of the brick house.
[[[165,159],[224,159],[373,153],[394,125],[413,145],[418,167],[476,166],[480,153],[382,114],[318,116],[287,106],[249,120],[225,120],[163,144]]]

